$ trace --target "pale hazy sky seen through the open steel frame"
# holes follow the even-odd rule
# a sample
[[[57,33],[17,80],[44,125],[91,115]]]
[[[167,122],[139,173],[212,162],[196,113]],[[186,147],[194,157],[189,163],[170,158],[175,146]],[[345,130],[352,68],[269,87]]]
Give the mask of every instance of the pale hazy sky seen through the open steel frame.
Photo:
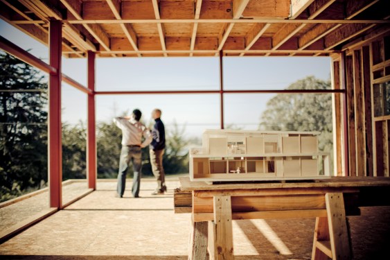
[[[0,19],[0,35],[48,62],[48,48]],[[315,76],[330,79],[326,57],[231,57],[223,58],[224,89],[285,89],[296,80]],[[62,58],[62,72],[87,85],[87,60]],[[220,87],[219,58],[96,58],[96,90],[215,90]],[[275,94],[225,94],[224,123],[257,130],[267,101]],[[188,136],[201,137],[220,127],[219,94],[98,95],[97,121],[138,108],[146,125],[158,107],[168,132],[176,124]],[[66,83],[62,85],[62,121],[87,120],[87,96]]]

